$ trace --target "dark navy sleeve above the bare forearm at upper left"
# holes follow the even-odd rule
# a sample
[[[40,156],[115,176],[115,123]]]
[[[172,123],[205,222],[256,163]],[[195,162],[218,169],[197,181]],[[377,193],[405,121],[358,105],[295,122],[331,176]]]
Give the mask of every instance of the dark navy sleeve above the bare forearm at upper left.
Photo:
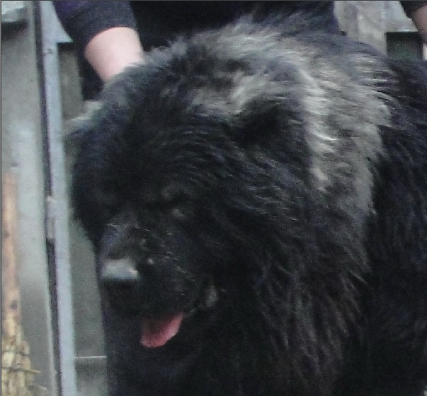
[[[83,52],[91,38],[115,26],[136,29],[128,1],[53,1],[64,30]]]

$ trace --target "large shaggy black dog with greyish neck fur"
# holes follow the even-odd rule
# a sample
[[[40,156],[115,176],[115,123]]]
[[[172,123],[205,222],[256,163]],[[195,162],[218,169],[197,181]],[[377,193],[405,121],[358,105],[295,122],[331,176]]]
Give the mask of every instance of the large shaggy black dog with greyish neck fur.
[[[423,73],[241,22],[105,88],[73,194],[112,395],[423,395]]]

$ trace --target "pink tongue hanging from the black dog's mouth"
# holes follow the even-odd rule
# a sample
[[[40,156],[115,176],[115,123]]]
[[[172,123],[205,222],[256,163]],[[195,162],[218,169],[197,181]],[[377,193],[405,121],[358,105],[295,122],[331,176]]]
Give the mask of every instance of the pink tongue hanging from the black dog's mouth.
[[[161,319],[143,319],[140,343],[146,348],[162,347],[174,337],[181,327],[184,314]]]

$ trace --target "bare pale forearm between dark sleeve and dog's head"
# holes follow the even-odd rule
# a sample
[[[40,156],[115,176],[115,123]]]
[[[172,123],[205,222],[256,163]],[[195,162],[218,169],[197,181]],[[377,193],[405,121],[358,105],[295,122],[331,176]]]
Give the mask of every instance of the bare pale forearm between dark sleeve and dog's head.
[[[84,57],[106,82],[131,64],[144,63],[144,50],[135,30],[125,27],[103,30],[86,45]]]

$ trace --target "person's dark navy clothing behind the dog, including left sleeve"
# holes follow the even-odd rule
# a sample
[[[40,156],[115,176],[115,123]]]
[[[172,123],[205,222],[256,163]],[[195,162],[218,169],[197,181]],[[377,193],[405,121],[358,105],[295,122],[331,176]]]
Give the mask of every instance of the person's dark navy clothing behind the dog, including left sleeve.
[[[84,98],[93,98],[101,80],[83,52],[101,31],[115,26],[137,29],[144,50],[168,45],[178,35],[220,28],[247,13],[256,21],[283,25],[287,18],[307,16],[300,30],[340,33],[334,16],[334,1],[53,1],[55,11],[79,54]],[[292,32],[291,32],[292,33]]]

